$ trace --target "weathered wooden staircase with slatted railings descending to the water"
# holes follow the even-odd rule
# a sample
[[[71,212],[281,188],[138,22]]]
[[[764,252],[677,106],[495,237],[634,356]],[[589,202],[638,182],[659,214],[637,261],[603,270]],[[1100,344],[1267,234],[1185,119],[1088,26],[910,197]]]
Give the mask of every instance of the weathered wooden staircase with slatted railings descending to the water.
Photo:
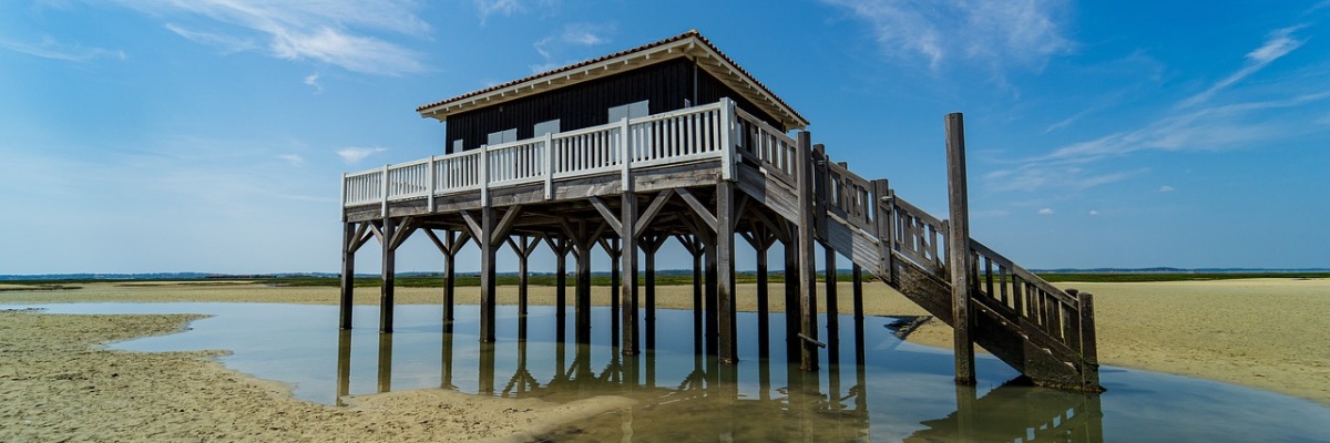
[[[738,188],[797,222],[795,141],[735,112]],[[817,239],[954,326],[947,221],[896,197],[886,180],[855,176],[822,149],[810,157]],[[975,343],[1036,383],[1100,390],[1091,295],[1053,287],[975,239],[968,245]]]

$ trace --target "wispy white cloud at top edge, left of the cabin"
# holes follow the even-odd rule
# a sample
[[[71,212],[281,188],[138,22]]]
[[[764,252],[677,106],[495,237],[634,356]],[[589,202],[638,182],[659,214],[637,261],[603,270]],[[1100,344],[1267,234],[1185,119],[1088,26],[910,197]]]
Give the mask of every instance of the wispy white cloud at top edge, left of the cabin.
[[[253,36],[267,40],[269,55],[315,60],[347,71],[403,74],[424,71],[420,53],[368,32],[423,36],[430,25],[415,16],[410,0],[258,1],[258,0],[121,0],[129,8],[162,17],[205,17],[226,32],[200,32],[168,23],[172,32],[223,51],[258,49]],[[238,29],[235,29],[238,28]]]

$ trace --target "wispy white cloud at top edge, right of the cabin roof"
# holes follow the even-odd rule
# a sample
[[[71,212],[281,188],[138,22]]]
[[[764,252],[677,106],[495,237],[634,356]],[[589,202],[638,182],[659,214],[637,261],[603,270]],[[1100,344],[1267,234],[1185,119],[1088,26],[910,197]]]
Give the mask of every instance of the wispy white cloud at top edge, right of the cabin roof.
[[[1040,69],[1075,44],[1064,36],[1061,0],[822,0],[867,21],[883,52],[922,57],[934,69],[974,60],[999,71]]]

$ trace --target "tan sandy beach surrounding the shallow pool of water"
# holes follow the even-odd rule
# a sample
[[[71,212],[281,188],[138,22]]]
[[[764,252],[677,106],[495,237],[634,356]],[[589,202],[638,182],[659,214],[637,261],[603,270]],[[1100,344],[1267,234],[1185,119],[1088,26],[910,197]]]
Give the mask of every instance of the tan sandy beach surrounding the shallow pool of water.
[[[90,283],[49,291],[0,291],[0,305],[64,302],[336,303],[335,287],[253,283]],[[1244,384],[1330,406],[1330,281],[1245,279],[1166,283],[1060,283],[1096,294],[1104,365]],[[773,293],[783,290],[773,285]],[[880,283],[864,285],[870,315],[926,313]],[[738,307],[755,310],[755,287],[741,286]],[[842,285],[849,311],[850,286]],[[476,303],[476,287],[459,287]],[[553,303],[553,287],[533,286],[531,303]],[[440,289],[400,287],[398,303],[439,303]],[[356,290],[376,303],[378,289]],[[595,287],[593,302],[608,303]],[[500,289],[516,303],[516,287]],[[773,310],[783,306],[773,297]],[[692,287],[658,289],[662,309],[692,307]],[[221,351],[138,354],[102,343],[169,334],[189,315],[52,315],[0,313],[0,439],[82,440],[476,440],[523,439],[559,423],[624,406],[597,398],[553,404],[480,398],[443,390],[351,399],[350,407],[297,400],[281,383],[222,367]],[[374,319],[358,319],[358,326]],[[330,325],[332,327],[332,325]],[[362,326],[363,327],[363,326]],[[951,330],[926,323],[910,341],[950,346]],[[448,410],[448,414],[435,414]]]

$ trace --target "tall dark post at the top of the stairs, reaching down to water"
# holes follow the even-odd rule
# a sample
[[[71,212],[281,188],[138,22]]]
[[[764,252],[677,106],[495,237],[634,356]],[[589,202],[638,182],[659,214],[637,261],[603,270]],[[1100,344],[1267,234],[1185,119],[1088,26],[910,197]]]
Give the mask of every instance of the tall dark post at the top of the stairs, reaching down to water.
[[[797,138],[798,161],[798,194],[799,194],[799,222],[798,222],[798,253],[799,253],[799,334],[805,337],[799,346],[799,369],[805,371],[818,370],[818,347],[814,343],[818,338],[818,281],[817,257],[813,254],[814,223],[819,217],[814,212],[813,198],[813,134],[807,130],[799,132]]]

